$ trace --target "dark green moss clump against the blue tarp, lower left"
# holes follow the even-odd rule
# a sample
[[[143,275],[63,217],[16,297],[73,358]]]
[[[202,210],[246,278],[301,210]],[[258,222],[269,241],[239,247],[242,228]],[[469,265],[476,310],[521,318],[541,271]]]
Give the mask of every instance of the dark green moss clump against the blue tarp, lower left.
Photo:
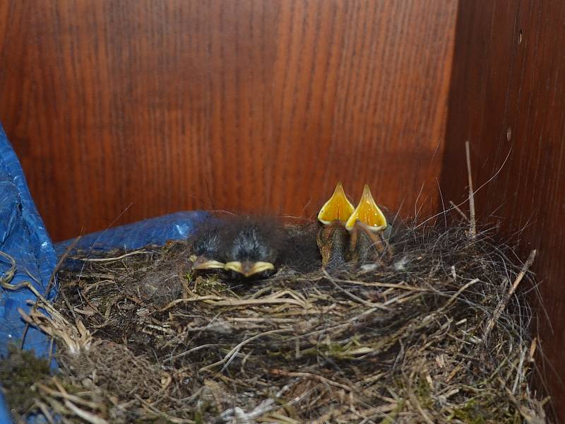
[[[49,363],[37,358],[34,351],[22,351],[16,343],[8,344],[8,355],[0,360],[0,381],[8,407],[21,413],[33,405],[33,384],[50,375]]]

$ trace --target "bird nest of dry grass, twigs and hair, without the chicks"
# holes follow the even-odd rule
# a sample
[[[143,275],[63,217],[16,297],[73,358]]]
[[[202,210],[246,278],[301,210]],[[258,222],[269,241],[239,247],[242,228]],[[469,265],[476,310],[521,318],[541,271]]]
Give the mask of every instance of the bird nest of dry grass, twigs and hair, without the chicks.
[[[183,242],[73,254],[54,305],[39,300],[24,315],[53,336],[60,370],[38,372],[14,414],[96,424],[545,423],[525,297],[533,256],[522,264],[468,230],[412,225],[386,263],[283,268],[258,281],[194,273]]]

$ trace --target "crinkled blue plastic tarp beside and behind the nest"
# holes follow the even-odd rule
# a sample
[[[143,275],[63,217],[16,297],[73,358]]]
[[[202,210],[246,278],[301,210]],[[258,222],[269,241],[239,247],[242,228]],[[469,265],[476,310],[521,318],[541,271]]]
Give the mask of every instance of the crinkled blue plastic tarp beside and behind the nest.
[[[167,240],[188,237],[196,225],[208,217],[205,212],[177,212],[53,245],[30,196],[16,153],[0,125],[0,251],[16,261],[17,271],[12,284],[30,281],[52,300],[57,294],[57,285],[52,284],[49,293],[45,291],[57,266],[57,255],[66,252],[71,244],[73,249],[95,250],[163,245]],[[0,258],[0,273],[9,269],[8,261]],[[50,341],[47,336],[33,328],[26,331],[25,322],[18,313],[18,307],[30,309],[30,300],[35,298],[28,289],[0,288],[0,355],[6,355],[8,343],[19,343],[22,339],[25,349],[33,349],[37,355],[48,354]],[[4,423],[11,423],[11,418],[0,392],[0,424]]]

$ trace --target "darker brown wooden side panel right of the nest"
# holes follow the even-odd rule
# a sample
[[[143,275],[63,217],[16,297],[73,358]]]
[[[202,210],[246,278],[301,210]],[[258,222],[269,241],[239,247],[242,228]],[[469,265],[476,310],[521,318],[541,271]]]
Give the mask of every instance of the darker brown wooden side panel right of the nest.
[[[500,225],[534,271],[546,378],[565,422],[565,3],[461,2],[441,187],[465,198],[472,147],[477,215]]]

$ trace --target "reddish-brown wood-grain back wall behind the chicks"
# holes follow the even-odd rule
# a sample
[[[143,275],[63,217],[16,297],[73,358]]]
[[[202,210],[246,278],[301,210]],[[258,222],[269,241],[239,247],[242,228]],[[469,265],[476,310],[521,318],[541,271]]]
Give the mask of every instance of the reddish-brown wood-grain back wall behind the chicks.
[[[7,0],[0,120],[54,240],[182,209],[308,216],[338,179],[425,214],[456,8]]]

